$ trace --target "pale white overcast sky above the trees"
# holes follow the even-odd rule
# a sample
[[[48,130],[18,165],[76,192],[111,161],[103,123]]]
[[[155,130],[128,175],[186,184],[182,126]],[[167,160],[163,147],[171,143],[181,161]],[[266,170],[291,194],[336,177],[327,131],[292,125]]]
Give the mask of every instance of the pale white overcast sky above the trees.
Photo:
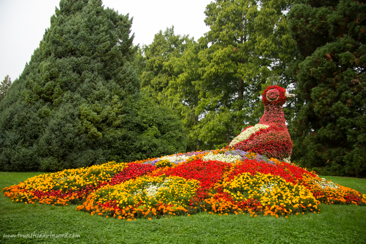
[[[189,34],[195,40],[210,29],[205,25],[205,8],[211,0],[103,0],[105,7],[133,17],[133,43],[150,44],[159,30],[174,25],[175,34]],[[0,0],[0,81],[8,74],[12,81],[23,72],[39,45],[59,0]]]

